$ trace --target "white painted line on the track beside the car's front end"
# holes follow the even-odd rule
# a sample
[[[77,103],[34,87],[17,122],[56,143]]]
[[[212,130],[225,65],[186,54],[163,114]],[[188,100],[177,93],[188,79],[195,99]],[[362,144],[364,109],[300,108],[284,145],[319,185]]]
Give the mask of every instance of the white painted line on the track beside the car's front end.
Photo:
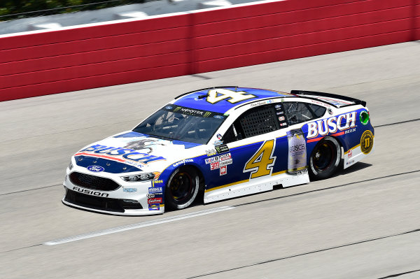
[[[141,222],[141,223],[137,223],[137,224],[127,224],[127,225],[121,226],[121,227],[115,227],[115,228],[111,228],[111,229],[103,229],[101,231],[93,231],[93,232],[87,233],[87,234],[79,234],[77,236],[69,236],[69,237],[66,237],[66,238],[60,238],[60,239],[56,239],[55,241],[45,242],[45,243],[43,243],[43,245],[57,245],[57,244],[68,243],[68,242],[72,242],[72,241],[80,241],[80,240],[86,239],[86,238],[92,238],[92,237],[96,237],[96,236],[104,236],[106,234],[115,234],[115,233],[118,233],[120,231],[129,231],[130,229],[139,229],[139,228],[154,226],[156,224],[169,223],[169,222],[188,219],[188,218],[192,218],[192,217],[207,215],[207,214],[211,214],[211,213],[218,213],[218,212],[225,211],[225,210],[230,210],[230,209],[233,209],[233,208],[235,208],[235,207],[234,206],[222,206],[222,207],[218,207],[218,208],[211,208],[211,209],[197,211],[197,212],[193,212],[193,213],[187,213],[187,214],[183,214],[183,215],[176,215],[176,216],[173,216],[173,217],[166,217],[166,218],[162,218],[162,219],[158,219],[158,220]]]

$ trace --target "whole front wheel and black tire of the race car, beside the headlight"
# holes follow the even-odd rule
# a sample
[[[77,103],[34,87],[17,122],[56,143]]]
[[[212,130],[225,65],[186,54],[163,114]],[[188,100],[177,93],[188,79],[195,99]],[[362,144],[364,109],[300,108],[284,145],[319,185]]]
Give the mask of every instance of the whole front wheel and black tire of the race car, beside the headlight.
[[[169,209],[183,209],[193,203],[198,193],[200,178],[192,167],[176,169],[165,189],[165,206]]]

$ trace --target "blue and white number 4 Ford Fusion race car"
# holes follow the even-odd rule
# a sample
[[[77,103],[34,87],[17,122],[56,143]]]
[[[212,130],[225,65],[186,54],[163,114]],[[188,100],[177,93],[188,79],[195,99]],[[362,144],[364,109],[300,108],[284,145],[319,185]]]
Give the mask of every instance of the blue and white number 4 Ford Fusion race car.
[[[328,178],[373,149],[365,101],[212,87],[78,151],[62,201],[115,215],[159,214],[190,206],[199,191],[209,203]]]

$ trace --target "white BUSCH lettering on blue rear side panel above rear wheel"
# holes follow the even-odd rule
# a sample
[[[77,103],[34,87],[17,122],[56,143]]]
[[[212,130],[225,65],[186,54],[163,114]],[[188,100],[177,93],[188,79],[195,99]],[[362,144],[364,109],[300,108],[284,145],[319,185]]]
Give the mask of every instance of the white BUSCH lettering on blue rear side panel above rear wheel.
[[[335,133],[337,129],[342,131],[352,127],[356,127],[356,111],[308,123],[307,138],[325,136],[328,133]]]

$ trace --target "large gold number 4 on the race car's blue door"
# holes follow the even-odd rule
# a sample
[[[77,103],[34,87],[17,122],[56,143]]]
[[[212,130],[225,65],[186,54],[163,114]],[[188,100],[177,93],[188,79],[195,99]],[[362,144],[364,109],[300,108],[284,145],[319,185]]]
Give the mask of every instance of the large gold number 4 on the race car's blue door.
[[[250,179],[268,176],[272,173],[276,157],[273,156],[275,141],[265,141],[244,167],[244,172],[251,171]]]

